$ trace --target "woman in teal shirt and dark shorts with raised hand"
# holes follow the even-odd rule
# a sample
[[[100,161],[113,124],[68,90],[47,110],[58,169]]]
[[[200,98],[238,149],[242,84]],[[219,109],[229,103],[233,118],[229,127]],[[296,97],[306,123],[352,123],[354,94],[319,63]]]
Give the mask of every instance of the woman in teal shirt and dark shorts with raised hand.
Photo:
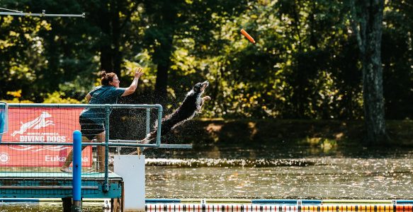
[[[89,104],[95,105],[104,105],[104,104],[116,104],[118,103],[118,98],[125,95],[130,95],[135,93],[137,88],[137,82],[139,81],[140,76],[142,76],[142,68],[135,69],[135,78],[133,78],[132,83],[128,88],[119,88],[119,78],[115,73],[106,73],[102,71],[101,83],[102,86],[98,86],[91,90],[86,95],[86,100]],[[105,141],[105,119],[106,112],[105,108],[89,108],[86,107],[80,114],[79,124],[81,128],[82,136],[85,136],[89,141],[97,139],[98,142]],[[82,146],[84,150],[86,146]],[[97,146],[97,155],[98,155],[98,172],[105,171],[105,149],[103,146]],[[69,169],[70,163],[72,163],[73,154],[70,151],[67,155],[66,161],[60,167],[62,172],[72,172]]]

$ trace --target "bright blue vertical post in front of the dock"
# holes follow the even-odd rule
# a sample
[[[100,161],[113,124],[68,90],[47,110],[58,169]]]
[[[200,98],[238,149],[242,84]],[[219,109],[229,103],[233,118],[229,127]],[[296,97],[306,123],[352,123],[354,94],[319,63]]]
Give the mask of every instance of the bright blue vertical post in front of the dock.
[[[73,132],[73,205],[72,211],[81,211],[81,132]]]

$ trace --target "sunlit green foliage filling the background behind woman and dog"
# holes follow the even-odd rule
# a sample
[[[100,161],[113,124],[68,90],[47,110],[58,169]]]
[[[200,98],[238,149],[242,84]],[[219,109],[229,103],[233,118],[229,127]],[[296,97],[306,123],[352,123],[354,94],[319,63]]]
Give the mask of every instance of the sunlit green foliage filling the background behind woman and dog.
[[[210,81],[205,117],[362,119],[362,75],[347,1],[2,1],[21,11],[86,18],[0,16],[0,98],[82,101],[113,69],[121,86],[145,67],[128,103],[179,105]],[[387,119],[412,119],[413,8],[387,1],[382,61]],[[252,45],[239,30],[254,37]]]

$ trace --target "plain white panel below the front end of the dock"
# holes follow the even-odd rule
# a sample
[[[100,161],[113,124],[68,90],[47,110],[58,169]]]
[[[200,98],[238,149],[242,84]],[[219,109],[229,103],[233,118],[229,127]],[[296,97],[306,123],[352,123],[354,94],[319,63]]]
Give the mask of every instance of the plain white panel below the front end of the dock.
[[[113,168],[123,178],[125,210],[145,211],[145,155],[114,155]]]

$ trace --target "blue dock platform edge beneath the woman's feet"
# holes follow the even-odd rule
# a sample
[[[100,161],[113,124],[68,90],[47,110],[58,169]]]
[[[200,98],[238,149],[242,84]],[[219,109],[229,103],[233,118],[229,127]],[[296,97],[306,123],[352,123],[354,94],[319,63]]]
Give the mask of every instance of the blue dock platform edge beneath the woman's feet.
[[[123,179],[108,173],[108,191],[104,189],[105,173],[81,174],[82,198],[120,199]],[[67,198],[72,196],[72,173],[0,172],[1,198]]]

